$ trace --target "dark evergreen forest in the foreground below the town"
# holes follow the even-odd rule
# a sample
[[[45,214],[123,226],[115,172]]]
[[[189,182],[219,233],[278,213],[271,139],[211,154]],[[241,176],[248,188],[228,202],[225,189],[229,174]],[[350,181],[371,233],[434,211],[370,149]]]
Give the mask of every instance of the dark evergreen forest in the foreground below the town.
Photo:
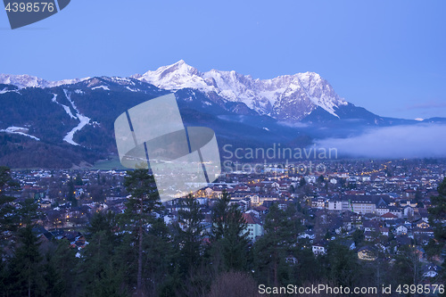
[[[308,240],[296,238],[302,229],[298,206],[280,210],[273,204],[265,235],[250,243],[243,213],[227,194],[214,204],[207,234],[192,196],[182,200],[178,220],[166,225],[156,215],[163,210],[147,170],[128,171],[125,186],[131,194],[127,209],[95,213],[80,251],[67,239],[36,236],[37,204],[15,203],[5,194],[20,188],[2,167],[0,296],[258,296],[259,285],[381,287],[417,284],[421,277],[410,246],[392,261],[367,261],[334,240],[316,257]],[[445,251],[446,178],[438,192],[430,210],[433,254]],[[442,284],[445,271],[443,264]]]

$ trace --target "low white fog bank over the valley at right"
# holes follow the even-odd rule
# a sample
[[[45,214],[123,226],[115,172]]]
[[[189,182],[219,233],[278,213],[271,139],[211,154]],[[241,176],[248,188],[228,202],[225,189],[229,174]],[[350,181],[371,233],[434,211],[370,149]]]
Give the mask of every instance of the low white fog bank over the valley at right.
[[[351,138],[326,138],[318,147],[334,147],[340,156],[369,158],[446,157],[446,125],[418,124],[376,128]]]

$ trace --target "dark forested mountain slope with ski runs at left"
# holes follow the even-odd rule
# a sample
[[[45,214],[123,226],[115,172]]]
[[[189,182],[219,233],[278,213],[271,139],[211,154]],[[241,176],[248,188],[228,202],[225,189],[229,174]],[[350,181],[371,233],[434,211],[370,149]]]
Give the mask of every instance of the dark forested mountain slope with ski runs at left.
[[[94,88],[105,84],[109,91]],[[103,78],[49,88],[0,85],[4,90],[0,93],[0,163],[12,168],[62,169],[93,164],[116,153],[114,120],[129,108],[168,93],[149,84],[140,88],[141,92],[131,92]],[[78,126],[78,112],[90,120],[74,133],[72,141],[79,145],[73,145],[64,138]],[[29,136],[4,131],[11,127]]]

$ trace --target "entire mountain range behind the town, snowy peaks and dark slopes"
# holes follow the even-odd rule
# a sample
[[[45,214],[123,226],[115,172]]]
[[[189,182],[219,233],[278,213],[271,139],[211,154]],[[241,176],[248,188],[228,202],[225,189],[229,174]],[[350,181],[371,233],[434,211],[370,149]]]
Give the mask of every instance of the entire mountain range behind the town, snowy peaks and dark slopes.
[[[220,148],[305,147],[369,128],[446,121],[380,117],[345,101],[314,72],[256,79],[179,61],[129,78],[0,74],[0,164],[71,168],[116,156],[114,120],[171,92],[185,124],[213,128]]]

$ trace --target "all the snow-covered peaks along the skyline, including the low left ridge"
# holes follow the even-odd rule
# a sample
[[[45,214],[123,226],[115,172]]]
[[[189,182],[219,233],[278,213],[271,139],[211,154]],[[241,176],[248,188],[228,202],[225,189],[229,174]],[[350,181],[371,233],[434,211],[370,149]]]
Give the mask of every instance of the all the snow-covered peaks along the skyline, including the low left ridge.
[[[47,81],[29,75],[0,74],[0,84],[24,87],[58,87],[84,81],[92,89],[110,90],[110,83],[117,83],[137,92],[136,80],[167,90],[194,88],[224,102],[245,103],[253,111],[268,114],[277,120],[299,121],[312,111],[322,109],[339,117],[336,111],[348,103],[335,93],[333,87],[318,73],[304,72],[277,78],[260,79],[243,75],[235,70],[210,70],[201,72],[180,60],[157,70],[131,78],[81,78]],[[217,95],[217,97],[216,97]]]

